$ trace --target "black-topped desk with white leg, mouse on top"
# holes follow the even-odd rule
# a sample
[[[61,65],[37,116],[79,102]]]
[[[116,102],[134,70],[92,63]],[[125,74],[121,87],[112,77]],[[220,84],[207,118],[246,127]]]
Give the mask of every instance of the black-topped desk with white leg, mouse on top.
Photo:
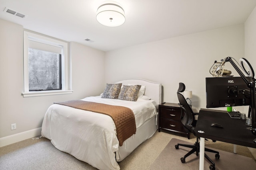
[[[204,169],[205,138],[256,148],[256,144],[253,143],[256,136],[246,129],[249,126],[245,121],[230,118],[226,111],[200,109],[196,123],[196,137],[200,137],[200,170]],[[212,123],[218,123],[223,128],[211,127]]]

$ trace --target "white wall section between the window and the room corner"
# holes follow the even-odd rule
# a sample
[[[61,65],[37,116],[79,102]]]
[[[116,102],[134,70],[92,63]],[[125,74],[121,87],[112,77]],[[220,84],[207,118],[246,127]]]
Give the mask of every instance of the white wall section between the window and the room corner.
[[[72,89],[78,99],[98,96],[105,84],[104,52],[75,42],[70,43],[72,57]]]

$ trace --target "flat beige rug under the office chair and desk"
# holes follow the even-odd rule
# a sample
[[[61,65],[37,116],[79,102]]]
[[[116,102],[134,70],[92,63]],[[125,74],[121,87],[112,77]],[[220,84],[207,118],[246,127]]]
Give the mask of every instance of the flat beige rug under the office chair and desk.
[[[192,144],[186,141],[172,138],[160,155],[156,158],[153,164],[150,166],[150,170],[198,170],[199,169],[199,156],[192,154],[186,158],[186,162],[182,163],[180,158],[188,153],[191,149],[180,146],[179,149],[175,149],[177,143]],[[209,147],[208,147],[209,148]],[[220,152],[220,159],[215,158],[215,153],[206,152],[206,154],[215,163],[216,170],[255,170],[256,162],[249,157],[241,156],[238,154],[225,152],[222,150],[214,149]],[[210,162],[205,159],[204,169],[209,169]]]

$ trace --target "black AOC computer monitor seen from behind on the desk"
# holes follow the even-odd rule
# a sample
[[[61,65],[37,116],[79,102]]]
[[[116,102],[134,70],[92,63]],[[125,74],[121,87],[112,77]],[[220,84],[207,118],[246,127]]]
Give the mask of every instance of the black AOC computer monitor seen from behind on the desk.
[[[248,106],[250,104],[250,88],[242,77],[206,78],[207,108]]]

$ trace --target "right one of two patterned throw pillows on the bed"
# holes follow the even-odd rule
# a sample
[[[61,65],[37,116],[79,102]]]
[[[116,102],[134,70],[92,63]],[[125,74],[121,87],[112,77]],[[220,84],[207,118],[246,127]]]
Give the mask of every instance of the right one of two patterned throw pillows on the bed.
[[[138,99],[138,92],[140,90],[140,87],[141,87],[141,85],[135,85],[135,86],[124,85],[119,94],[118,99],[135,102]]]

